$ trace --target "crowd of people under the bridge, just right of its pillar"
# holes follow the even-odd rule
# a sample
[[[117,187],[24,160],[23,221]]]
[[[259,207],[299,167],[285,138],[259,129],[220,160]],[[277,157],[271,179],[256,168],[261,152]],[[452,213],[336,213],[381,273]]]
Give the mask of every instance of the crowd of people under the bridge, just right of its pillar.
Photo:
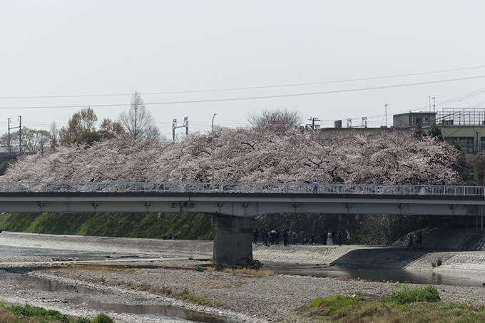
[[[258,238],[260,237],[260,232],[255,228],[252,232],[252,243],[257,244]],[[270,246],[270,245],[279,245],[280,239],[282,237],[283,245],[312,245],[316,243],[315,238],[310,235],[305,235],[305,231],[302,229],[299,233],[295,230],[286,230],[283,229],[280,233],[277,229],[271,230],[262,230],[261,234],[261,242],[263,245]],[[322,245],[342,245],[342,241],[345,241],[347,245],[350,245],[350,232],[349,230],[345,230],[344,235],[340,233],[340,231],[335,234],[335,231],[325,231],[320,235],[320,242]]]

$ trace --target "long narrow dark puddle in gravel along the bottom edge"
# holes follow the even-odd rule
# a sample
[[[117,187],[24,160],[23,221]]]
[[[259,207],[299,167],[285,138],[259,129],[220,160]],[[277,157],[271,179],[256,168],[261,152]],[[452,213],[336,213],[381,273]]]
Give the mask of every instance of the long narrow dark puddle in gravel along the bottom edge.
[[[83,304],[91,309],[98,309],[102,311],[113,311],[116,313],[131,313],[142,314],[149,317],[162,318],[177,318],[186,319],[192,322],[203,323],[237,323],[233,319],[224,319],[222,317],[215,317],[210,314],[192,311],[190,309],[183,309],[182,307],[170,305],[126,305],[126,304],[112,304],[96,302],[83,296],[74,297],[73,299],[66,299],[77,304]]]

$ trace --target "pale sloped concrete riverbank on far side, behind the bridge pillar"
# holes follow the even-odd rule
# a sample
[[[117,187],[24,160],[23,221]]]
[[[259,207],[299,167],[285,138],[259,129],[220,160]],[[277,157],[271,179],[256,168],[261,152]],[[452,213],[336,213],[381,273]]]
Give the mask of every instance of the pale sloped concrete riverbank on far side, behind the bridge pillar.
[[[98,252],[118,257],[212,257],[212,241],[157,240],[119,237],[40,235],[17,232],[0,234],[0,245],[78,252]],[[433,249],[362,245],[253,245],[261,262],[332,264],[357,267],[400,268],[412,271],[485,272],[485,251],[459,252]],[[16,257],[16,261],[23,260]],[[5,262],[5,259],[4,259]]]

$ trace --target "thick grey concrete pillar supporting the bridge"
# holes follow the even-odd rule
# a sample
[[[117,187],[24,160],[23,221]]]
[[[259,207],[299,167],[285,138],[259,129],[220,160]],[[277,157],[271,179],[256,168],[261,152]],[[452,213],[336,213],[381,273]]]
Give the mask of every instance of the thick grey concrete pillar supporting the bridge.
[[[252,231],[254,217],[213,215],[213,260],[218,267],[250,267],[252,261]]]

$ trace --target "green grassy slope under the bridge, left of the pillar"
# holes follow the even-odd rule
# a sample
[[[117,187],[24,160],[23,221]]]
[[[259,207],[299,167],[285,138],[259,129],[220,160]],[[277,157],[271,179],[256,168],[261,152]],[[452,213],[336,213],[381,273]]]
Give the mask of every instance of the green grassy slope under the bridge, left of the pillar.
[[[54,235],[213,239],[210,216],[190,213],[6,213],[0,216],[0,228]]]

